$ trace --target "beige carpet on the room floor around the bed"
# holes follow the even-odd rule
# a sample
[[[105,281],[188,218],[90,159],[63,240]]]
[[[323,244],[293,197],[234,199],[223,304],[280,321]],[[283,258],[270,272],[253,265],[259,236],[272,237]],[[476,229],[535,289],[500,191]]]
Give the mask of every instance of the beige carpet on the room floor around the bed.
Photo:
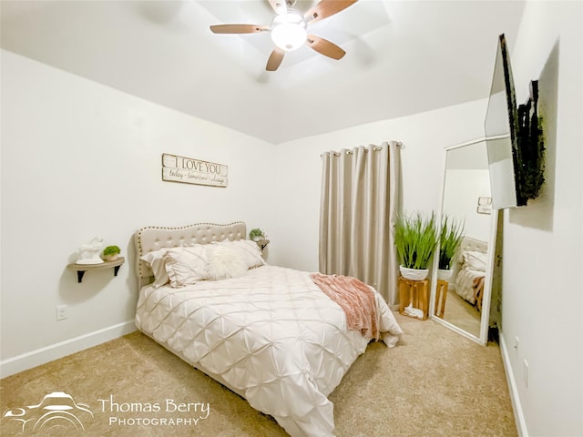
[[[397,347],[369,345],[330,396],[336,436],[517,436],[496,344],[482,347],[433,320],[395,317],[404,330]],[[138,332],[3,379],[2,412],[37,404],[53,391],[65,391],[93,412],[79,435],[287,435],[271,417]],[[114,410],[159,403],[161,412],[111,412],[111,397],[119,404]],[[155,418],[205,415],[192,412],[193,406],[190,413],[166,412],[168,400],[170,410],[208,403],[208,417],[196,425],[153,425]],[[112,417],[127,423],[110,424]],[[129,425],[132,418],[150,423]],[[14,425],[3,418],[0,433],[15,435]]]

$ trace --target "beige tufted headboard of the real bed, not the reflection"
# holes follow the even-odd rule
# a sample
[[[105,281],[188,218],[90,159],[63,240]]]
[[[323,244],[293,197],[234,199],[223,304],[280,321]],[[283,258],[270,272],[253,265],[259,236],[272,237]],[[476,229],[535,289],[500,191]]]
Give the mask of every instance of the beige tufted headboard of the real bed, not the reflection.
[[[153,275],[148,263],[140,259],[148,252],[162,248],[208,244],[213,241],[236,241],[246,239],[246,237],[247,227],[242,221],[225,225],[196,223],[180,228],[147,226],[138,229],[136,234],[134,234],[134,244],[136,245],[136,272],[139,283],[142,285],[144,279],[149,279]]]

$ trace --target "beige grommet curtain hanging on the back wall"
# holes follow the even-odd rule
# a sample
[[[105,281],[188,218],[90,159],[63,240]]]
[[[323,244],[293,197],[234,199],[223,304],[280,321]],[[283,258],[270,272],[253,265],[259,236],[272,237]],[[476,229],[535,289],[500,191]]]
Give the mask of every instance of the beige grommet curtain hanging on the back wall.
[[[353,276],[398,303],[393,225],[399,205],[400,143],[322,155],[320,271]]]

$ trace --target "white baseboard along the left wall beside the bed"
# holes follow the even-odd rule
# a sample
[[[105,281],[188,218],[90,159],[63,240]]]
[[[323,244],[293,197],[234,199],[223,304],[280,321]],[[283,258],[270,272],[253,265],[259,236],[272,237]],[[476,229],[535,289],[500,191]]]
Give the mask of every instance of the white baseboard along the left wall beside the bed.
[[[0,378],[13,375],[19,371],[26,371],[49,361],[63,358],[66,355],[83,351],[97,344],[117,339],[136,330],[134,320],[124,321],[118,325],[109,326],[103,330],[96,330],[74,339],[61,341],[44,348],[37,349],[0,361]]]

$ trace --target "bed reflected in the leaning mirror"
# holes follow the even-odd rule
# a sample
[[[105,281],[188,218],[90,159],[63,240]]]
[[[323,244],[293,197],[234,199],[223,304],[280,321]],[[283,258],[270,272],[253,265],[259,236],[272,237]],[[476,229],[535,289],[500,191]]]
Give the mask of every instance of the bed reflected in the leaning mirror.
[[[482,309],[488,243],[464,237],[455,255],[450,286],[457,295]]]

